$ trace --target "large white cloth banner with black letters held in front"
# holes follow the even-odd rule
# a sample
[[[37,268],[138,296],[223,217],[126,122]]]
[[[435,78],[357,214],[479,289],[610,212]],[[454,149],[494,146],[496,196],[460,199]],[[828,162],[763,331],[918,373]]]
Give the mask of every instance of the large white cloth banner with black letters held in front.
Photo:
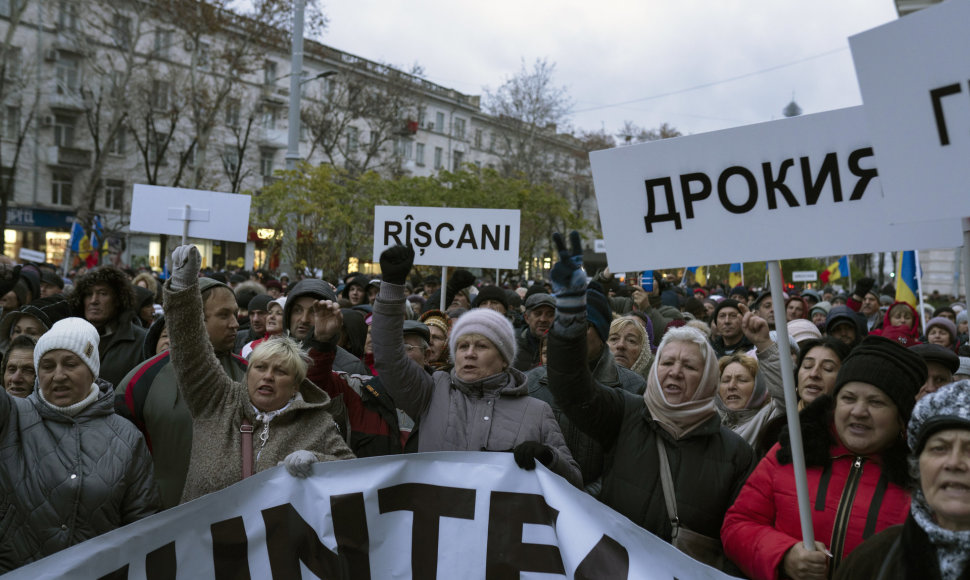
[[[5,578],[292,580],[304,568],[354,580],[728,578],[541,465],[467,452],[317,463],[307,479],[264,471]]]

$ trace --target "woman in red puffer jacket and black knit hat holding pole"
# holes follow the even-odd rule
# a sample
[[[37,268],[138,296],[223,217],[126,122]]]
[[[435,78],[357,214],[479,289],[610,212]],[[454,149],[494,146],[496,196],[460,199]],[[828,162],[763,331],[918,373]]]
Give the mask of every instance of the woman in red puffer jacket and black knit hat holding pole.
[[[799,416],[816,550],[805,549],[787,432],[745,482],[721,528],[725,554],[753,579],[824,579],[864,539],[909,511],[906,421],[926,380],[919,356],[867,337],[833,395]]]

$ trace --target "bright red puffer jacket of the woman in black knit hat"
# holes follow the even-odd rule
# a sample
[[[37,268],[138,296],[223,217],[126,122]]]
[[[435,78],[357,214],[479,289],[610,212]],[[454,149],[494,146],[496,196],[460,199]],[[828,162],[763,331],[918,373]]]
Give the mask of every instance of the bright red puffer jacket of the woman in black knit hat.
[[[831,399],[826,399],[831,405]],[[902,449],[856,456],[838,441],[831,422],[827,422],[822,433],[817,432],[820,424],[814,429],[806,428],[806,420],[824,417],[819,411],[816,405],[803,411],[802,431],[815,539],[832,552],[834,569],[863,540],[903,523],[910,496],[900,474],[900,469],[905,470]],[[721,527],[725,554],[749,578],[778,578],[785,553],[801,541],[795,474],[787,439],[786,434],[782,444],[772,447],[761,460],[728,509]],[[826,457],[819,457],[820,442],[829,444]],[[787,460],[784,463],[779,461],[779,452]],[[889,469],[887,461],[892,463]]]

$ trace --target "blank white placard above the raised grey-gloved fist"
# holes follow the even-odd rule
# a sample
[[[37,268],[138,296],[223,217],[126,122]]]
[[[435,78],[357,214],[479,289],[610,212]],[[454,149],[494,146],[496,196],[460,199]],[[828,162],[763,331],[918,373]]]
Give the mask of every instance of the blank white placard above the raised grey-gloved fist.
[[[136,184],[131,197],[131,231],[181,236],[189,206],[189,237],[246,243],[248,195]]]

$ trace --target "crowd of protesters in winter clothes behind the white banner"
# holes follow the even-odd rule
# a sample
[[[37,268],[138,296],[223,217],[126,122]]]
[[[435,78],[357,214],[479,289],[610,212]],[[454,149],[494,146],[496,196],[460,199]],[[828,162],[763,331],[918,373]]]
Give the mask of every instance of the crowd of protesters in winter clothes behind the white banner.
[[[555,242],[548,280],[508,287],[442,287],[400,246],[333,281],[203,270],[193,246],[166,280],[0,266],[0,573],[277,465],[451,450],[542,463],[740,577],[970,578],[965,304],[863,278],[776,320],[767,289],[645,289]]]

